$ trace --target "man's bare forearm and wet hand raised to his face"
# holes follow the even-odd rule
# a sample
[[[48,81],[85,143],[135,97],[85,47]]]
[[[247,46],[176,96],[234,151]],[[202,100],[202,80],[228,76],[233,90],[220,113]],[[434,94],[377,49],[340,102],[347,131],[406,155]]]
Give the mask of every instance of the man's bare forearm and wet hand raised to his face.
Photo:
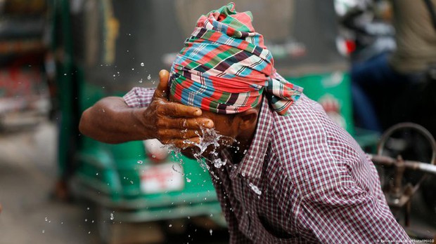
[[[83,135],[106,143],[157,138],[181,149],[199,142],[201,127],[212,128],[202,111],[168,101],[169,73],[159,73],[160,83],[148,107],[129,107],[122,97],[104,97],[82,113],[79,130]]]

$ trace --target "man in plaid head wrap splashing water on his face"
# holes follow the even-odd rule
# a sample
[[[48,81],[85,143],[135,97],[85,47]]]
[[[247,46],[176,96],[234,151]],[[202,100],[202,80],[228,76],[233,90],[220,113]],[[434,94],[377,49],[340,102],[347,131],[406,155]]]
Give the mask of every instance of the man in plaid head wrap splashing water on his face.
[[[80,130],[109,143],[158,138],[203,154],[230,243],[410,242],[371,161],[319,104],[276,74],[249,12],[203,15],[171,74],[84,111]],[[219,163],[217,163],[217,161]]]

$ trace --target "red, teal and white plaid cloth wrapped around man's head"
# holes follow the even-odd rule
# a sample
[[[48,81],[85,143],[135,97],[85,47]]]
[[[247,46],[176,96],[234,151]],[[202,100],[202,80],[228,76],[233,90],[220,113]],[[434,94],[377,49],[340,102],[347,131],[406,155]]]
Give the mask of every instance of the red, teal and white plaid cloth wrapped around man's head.
[[[182,104],[235,114],[256,107],[266,91],[271,107],[286,115],[302,93],[277,74],[252,14],[236,12],[233,3],[202,15],[184,44],[169,78],[169,90]]]

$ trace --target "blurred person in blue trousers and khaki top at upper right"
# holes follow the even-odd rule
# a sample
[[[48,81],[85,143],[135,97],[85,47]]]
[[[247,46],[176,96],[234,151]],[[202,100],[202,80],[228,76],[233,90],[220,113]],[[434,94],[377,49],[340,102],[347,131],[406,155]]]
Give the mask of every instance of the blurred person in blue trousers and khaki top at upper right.
[[[436,0],[425,1],[391,0],[397,47],[352,67],[354,111],[362,128],[382,132],[386,126],[380,121],[377,98],[425,81],[426,72],[436,62],[435,17],[430,14]]]

